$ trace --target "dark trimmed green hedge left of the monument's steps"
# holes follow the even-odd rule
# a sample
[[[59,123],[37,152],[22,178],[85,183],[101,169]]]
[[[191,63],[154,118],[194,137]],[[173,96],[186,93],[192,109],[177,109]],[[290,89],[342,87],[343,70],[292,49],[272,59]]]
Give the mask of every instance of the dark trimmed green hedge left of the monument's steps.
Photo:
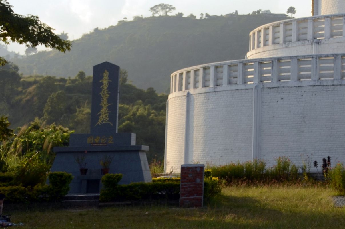
[[[72,175],[66,172],[53,172],[48,177],[49,185],[0,187],[0,193],[5,194],[6,203],[55,202],[61,200],[69,191]]]

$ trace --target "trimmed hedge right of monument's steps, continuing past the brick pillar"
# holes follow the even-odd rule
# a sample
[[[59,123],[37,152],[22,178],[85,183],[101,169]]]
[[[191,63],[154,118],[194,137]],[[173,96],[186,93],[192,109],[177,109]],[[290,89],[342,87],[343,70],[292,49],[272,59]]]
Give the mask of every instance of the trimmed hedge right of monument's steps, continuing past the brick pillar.
[[[102,177],[103,189],[99,200],[124,201],[124,200],[155,200],[178,199],[180,192],[180,179],[152,179],[152,183],[131,183],[118,185],[122,174],[106,174]],[[213,197],[221,191],[217,178],[206,178],[204,182],[204,198]]]

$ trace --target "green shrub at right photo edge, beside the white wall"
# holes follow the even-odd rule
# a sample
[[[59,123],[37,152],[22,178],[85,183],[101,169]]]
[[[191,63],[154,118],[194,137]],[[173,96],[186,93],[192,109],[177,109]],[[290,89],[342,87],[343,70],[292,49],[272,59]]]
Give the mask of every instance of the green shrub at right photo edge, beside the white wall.
[[[345,195],[345,169],[343,164],[337,164],[328,171],[328,178],[331,187],[337,191],[338,195]]]

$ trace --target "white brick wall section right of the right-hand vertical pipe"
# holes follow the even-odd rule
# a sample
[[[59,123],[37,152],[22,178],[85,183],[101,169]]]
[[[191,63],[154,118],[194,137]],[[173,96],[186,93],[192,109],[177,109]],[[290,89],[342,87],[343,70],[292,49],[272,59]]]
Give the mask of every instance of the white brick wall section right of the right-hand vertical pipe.
[[[301,164],[308,154],[319,164],[327,156],[344,162],[344,98],[344,85],[264,88],[261,158],[274,164],[274,158],[289,156]]]

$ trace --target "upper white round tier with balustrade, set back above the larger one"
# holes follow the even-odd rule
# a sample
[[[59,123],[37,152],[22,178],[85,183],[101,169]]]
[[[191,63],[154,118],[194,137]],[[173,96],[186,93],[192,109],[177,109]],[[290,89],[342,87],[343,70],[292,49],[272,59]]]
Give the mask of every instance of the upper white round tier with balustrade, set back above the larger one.
[[[345,1],[344,1],[345,2]],[[345,15],[323,15],[269,23],[249,34],[248,59],[342,53]]]

